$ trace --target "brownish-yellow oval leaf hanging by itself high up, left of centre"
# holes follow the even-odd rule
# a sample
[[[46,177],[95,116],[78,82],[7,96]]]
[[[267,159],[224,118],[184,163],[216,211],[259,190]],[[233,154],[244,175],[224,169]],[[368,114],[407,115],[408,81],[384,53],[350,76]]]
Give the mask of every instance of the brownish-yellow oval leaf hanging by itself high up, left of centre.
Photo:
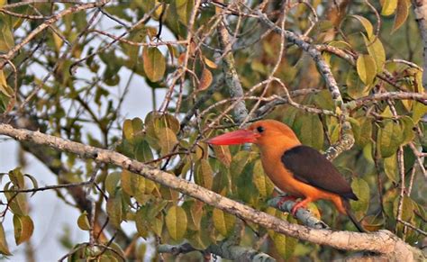
[[[142,51],[144,72],[151,82],[159,82],[166,71],[166,59],[160,50],[155,47],[147,47]]]

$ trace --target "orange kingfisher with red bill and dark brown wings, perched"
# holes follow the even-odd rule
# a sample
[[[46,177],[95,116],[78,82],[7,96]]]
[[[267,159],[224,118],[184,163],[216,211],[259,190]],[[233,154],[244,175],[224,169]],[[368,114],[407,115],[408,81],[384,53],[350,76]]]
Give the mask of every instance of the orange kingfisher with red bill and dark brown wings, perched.
[[[358,200],[349,182],[318,150],[303,145],[283,122],[261,120],[248,128],[224,133],[207,140],[211,145],[253,143],[258,146],[262,167],[288,200],[300,198],[291,213],[308,203],[324,199],[331,201],[339,212],[347,214],[356,228],[366,230],[351,212],[349,200]]]

